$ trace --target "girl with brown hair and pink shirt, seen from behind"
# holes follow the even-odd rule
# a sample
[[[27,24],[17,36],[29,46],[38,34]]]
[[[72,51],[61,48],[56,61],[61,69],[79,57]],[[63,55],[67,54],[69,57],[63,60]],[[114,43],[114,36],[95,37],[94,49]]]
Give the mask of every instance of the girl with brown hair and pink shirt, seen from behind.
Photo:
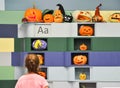
[[[28,54],[25,58],[28,73],[21,76],[15,88],[48,88],[47,80],[38,75],[39,58],[36,54]]]

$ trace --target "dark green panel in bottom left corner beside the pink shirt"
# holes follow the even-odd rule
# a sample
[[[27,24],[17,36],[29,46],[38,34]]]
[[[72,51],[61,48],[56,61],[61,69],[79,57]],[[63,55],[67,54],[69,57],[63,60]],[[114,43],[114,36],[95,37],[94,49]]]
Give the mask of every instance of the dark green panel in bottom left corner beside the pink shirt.
[[[0,88],[15,88],[17,80],[0,80]]]

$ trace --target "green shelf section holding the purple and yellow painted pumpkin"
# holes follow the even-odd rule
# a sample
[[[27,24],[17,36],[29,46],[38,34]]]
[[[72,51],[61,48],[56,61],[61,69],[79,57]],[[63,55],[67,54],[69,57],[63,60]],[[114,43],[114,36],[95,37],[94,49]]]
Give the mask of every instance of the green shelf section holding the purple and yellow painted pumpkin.
[[[66,38],[17,38],[15,51],[66,51]],[[22,52],[22,51],[21,51]]]

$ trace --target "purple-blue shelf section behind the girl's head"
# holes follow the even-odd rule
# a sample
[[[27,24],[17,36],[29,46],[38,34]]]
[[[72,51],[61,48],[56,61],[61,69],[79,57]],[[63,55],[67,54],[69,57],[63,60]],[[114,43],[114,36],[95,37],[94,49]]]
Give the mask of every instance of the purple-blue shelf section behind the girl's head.
[[[12,52],[12,66],[24,66],[24,59],[28,53],[42,55],[41,66],[65,66],[64,52]]]

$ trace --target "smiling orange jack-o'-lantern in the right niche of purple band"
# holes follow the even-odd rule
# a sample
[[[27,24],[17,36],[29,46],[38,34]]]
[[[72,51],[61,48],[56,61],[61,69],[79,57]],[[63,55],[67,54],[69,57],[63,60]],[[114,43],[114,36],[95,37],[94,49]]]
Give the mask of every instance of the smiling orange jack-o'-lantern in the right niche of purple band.
[[[73,57],[73,64],[85,65],[87,63],[87,57],[85,55],[77,55]]]

